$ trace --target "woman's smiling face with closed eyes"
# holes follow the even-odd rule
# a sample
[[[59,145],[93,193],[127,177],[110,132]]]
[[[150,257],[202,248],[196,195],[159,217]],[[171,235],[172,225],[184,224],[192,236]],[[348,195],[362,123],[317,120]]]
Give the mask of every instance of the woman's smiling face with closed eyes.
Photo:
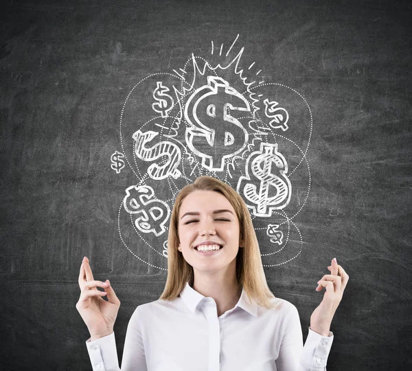
[[[194,191],[187,195],[179,211],[179,246],[185,261],[194,270],[216,271],[234,265],[239,250],[239,220],[224,195],[214,191]],[[219,245],[215,252],[199,252],[198,246]]]

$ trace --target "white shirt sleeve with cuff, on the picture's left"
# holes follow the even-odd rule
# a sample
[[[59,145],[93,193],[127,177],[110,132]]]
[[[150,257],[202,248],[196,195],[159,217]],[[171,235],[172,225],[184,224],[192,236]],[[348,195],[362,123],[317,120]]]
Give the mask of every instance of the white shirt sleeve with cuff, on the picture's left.
[[[115,333],[86,342],[93,371],[147,371],[144,344],[139,324],[139,311],[136,308],[126,331],[122,368],[119,368]]]

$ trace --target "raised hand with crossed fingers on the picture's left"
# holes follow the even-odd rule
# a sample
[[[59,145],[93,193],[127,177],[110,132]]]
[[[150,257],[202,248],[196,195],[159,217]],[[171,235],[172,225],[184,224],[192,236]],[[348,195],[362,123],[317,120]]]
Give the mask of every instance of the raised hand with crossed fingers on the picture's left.
[[[89,259],[86,256],[80,266],[79,286],[81,292],[76,309],[89,328],[91,341],[113,333],[120,300],[108,280],[106,283],[94,280]],[[103,287],[104,291],[98,290],[97,287]],[[102,298],[105,295],[108,301]]]

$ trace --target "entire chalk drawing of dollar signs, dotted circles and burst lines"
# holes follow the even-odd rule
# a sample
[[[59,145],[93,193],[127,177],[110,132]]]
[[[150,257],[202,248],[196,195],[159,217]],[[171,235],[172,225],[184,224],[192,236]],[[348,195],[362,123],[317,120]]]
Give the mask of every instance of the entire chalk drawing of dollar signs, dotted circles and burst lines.
[[[202,175],[242,196],[264,266],[286,264],[304,246],[294,220],[310,192],[312,112],[298,91],[266,81],[259,56],[244,58],[240,39],[209,41],[207,55],[192,53],[170,71],[142,77],[124,101],[121,152],[111,156],[111,168],[128,169],[135,184],[126,189],[117,228],[150,269],[167,270],[170,210]]]

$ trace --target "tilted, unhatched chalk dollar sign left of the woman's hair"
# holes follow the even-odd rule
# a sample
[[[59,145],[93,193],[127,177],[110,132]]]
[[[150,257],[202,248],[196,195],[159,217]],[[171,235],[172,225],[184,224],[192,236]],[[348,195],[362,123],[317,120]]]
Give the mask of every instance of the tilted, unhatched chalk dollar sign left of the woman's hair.
[[[165,231],[170,208],[164,201],[155,198],[152,187],[146,185],[128,187],[123,205],[129,214],[139,214],[135,219],[135,226],[141,232],[152,232],[155,236],[160,236]]]

